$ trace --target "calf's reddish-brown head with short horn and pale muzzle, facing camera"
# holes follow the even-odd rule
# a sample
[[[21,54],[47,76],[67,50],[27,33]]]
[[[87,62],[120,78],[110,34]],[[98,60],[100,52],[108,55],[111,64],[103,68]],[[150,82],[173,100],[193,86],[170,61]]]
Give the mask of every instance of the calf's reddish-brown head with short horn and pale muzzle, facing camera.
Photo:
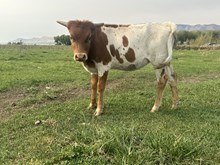
[[[86,61],[91,42],[94,39],[95,28],[103,24],[93,24],[89,21],[57,21],[57,23],[67,27],[69,30],[74,60],[80,62]]]

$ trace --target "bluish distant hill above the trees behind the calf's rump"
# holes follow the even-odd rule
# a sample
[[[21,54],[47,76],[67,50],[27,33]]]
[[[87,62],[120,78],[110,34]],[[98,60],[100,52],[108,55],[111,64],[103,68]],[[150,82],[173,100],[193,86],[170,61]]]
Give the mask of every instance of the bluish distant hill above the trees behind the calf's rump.
[[[177,24],[177,30],[186,30],[186,31],[194,31],[194,30],[220,30],[220,25],[216,24],[208,24],[208,25],[187,25],[187,24]]]

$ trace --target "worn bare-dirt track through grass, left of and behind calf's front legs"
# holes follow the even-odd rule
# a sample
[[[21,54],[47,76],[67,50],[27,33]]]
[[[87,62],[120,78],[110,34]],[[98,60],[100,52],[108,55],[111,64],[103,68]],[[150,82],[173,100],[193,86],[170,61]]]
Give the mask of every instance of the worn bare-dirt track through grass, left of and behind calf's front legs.
[[[109,80],[107,90],[117,88],[124,79]],[[63,84],[48,84],[26,89],[12,89],[0,93],[0,118],[18,111],[37,108],[54,102],[64,102],[73,98],[90,96],[90,85],[74,87]]]

